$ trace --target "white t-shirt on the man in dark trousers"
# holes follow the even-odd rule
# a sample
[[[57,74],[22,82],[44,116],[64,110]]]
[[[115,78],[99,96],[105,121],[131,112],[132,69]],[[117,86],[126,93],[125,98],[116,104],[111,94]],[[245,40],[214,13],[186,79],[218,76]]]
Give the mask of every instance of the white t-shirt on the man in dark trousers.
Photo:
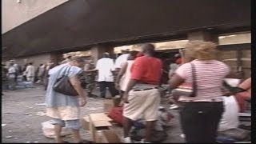
[[[114,70],[114,60],[111,58],[101,58],[96,64],[98,70],[98,82],[114,82],[112,70]]]

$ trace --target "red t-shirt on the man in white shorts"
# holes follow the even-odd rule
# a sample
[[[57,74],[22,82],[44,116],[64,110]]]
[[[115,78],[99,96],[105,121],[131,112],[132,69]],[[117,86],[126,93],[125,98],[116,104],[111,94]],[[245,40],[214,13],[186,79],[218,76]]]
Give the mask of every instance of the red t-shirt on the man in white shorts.
[[[157,85],[162,76],[162,61],[158,58],[142,56],[134,60],[130,70],[132,79]]]

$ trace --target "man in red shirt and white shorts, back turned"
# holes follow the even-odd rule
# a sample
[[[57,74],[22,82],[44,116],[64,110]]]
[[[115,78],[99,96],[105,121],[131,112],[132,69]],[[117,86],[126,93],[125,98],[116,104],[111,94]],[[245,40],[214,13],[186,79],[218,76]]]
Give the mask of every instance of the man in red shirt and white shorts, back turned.
[[[131,122],[144,116],[146,136],[144,142],[150,142],[151,132],[158,116],[160,93],[158,86],[162,76],[162,61],[154,58],[154,45],[142,45],[142,57],[136,58],[131,67],[131,78],[123,95],[124,138],[130,143]]]

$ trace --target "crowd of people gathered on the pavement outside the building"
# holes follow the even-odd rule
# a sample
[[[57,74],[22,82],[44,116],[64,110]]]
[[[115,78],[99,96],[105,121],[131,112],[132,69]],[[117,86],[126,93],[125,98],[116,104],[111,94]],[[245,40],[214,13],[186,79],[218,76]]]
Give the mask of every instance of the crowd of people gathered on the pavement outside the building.
[[[154,45],[142,44],[141,51],[123,50],[115,61],[109,53],[94,64],[94,58],[86,60],[79,57],[67,57],[58,66],[53,63],[40,65],[35,71],[33,63],[19,70],[14,62],[7,74],[10,90],[14,88],[17,74],[23,74],[26,81],[43,82],[46,88],[46,114],[53,118],[56,142],[64,142],[60,136],[62,126],[73,131],[74,142],[82,142],[79,134],[79,106],[86,105],[86,97],[97,98],[93,90],[98,83],[100,98],[106,98],[106,90],[112,97],[120,95],[123,106],[123,142],[130,143],[130,128],[138,118],[146,121],[146,134],[142,142],[150,142],[152,130],[158,117],[162,78],[162,60],[154,57]],[[229,78],[230,68],[218,61],[218,50],[213,42],[191,41],[186,48],[175,54],[170,63],[168,95],[170,109],[178,108],[182,132],[186,142],[216,142],[218,126],[222,123],[223,104],[226,93],[223,92],[223,81]],[[194,69],[192,70],[192,67]],[[5,66],[3,66],[5,67]],[[194,74],[192,74],[194,71]],[[78,97],[60,94],[54,91],[54,83],[66,74],[71,86],[78,92]],[[35,80],[35,77],[36,80]],[[196,78],[194,80],[194,77]],[[6,81],[2,78],[2,81]],[[195,82],[193,82],[195,81]],[[3,82],[4,83],[4,82]],[[193,96],[174,95],[172,90],[181,84],[196,85]],[[6,85],[2,85],[6,86]],[[244,99],[250,98],[250,78],[238,85],[242,92],[233,94],[239,110],[244,110]],[[106,89],[108,88],[108,89]],[[82,89],[86,89],[86,93]]]

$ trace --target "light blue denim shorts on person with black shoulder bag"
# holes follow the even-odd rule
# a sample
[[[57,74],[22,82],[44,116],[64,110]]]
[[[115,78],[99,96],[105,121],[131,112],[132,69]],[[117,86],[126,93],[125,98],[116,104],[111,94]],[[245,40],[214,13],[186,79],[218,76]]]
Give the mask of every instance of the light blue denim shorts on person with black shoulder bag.
[[[60,125],[62,127],[66,127],[74,130],[79,130],[81,128],[79,119],[63,121],[62,119],[59,119],[59,118],[53,118],[51,121],[51,124]]]

